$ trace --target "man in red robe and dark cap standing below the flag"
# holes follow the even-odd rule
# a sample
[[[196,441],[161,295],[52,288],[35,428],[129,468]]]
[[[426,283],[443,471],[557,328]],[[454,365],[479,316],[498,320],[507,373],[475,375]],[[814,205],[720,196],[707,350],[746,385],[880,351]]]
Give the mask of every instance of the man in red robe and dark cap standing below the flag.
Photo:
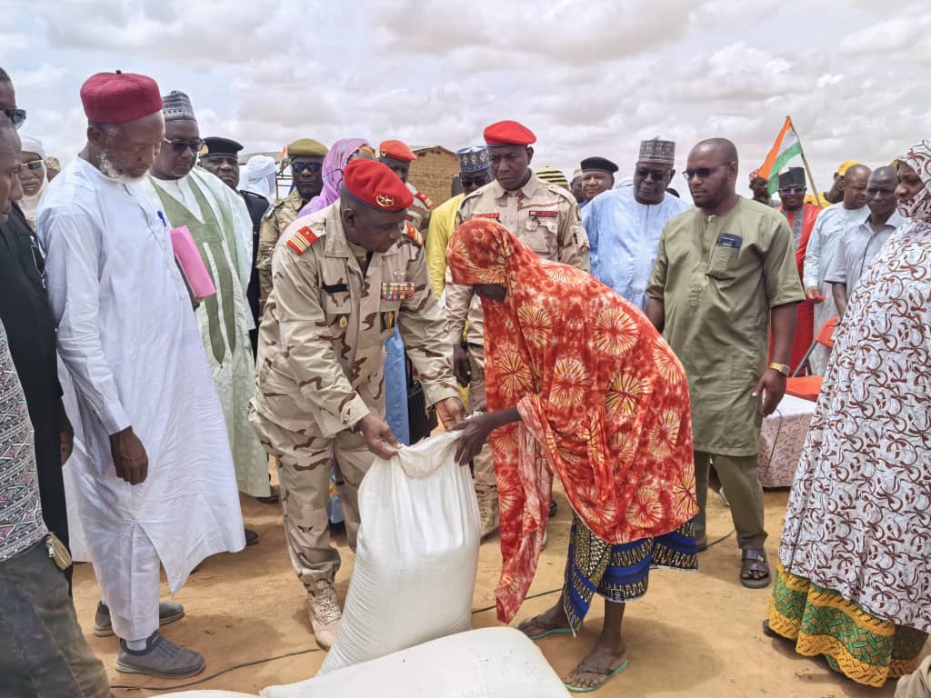
[[[821,212],[821,208],[814,204],[805,203],[807,191],[804,168],[789,168],[779,174],[779,198],[782,204],[776,210],[780,211],[789,221],[799,279],[803,276],[808,240],[811,238],[818,214]],[[793,371],[798,367],[812,343],[815,328],[815,308],[812,299],[806,298],[799,303],[797,311],[795,340],[792,342],[792,353],[789,356],[789,366]]]

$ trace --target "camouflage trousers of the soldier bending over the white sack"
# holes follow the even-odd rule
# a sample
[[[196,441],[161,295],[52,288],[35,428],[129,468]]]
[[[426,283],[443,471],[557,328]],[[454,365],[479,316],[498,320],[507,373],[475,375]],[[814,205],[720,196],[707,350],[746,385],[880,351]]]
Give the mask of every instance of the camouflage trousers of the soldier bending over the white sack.
[[[358,486],[375,456],[366,448],[361,434],[345,431],[326,438],[312,429],[292,432],[266,419],[251,405],[249,419],[259,441],[277,462],[285,538],[294,572],[308,589],[313,589],[320,579],[332,582],[340,569],[340,554],[330,543],[327,516],[331,460],[346,537],[355,551]]]

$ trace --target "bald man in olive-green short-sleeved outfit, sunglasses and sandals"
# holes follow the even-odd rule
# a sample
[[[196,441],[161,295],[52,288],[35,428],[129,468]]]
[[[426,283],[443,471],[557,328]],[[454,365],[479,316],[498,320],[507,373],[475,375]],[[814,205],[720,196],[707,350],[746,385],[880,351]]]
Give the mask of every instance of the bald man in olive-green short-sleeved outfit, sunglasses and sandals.
[[[737,151],[701,141],[684,172],[695,207],[668,221],[646,289],[646,315],[664,332],[689,378],[695,538],[707,544],[709,461],[731,503],[742,550],[740,582],[770,583],[763,552],[757,442],[762,417],[786,392],[795,308],[803,300],[792,234],[778,212],[735,193]],[[772,329],[772,363],[767,359]]]

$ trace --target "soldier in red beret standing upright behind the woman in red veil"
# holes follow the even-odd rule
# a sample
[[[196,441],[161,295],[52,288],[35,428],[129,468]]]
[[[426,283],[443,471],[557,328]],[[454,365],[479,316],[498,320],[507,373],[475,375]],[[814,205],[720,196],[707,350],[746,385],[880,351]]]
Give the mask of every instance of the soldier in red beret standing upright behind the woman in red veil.
[[[484,136],[494,181],[466,195],[459,207],[458,223],[490,218],[541,257],[589,271],[588,238],[575,198],[559,185],[540,180],[530,168],[531,143],[536,141],[533,132],[516,121],[500,121],[485,128]],[[471,287],[452,284],[447,278],[446,312],[456,379],[469,387],[469,406],[484,410],[485,354],[479,298]],[[491,451],[485,448],[473,459],[482,537],[498,528]]]

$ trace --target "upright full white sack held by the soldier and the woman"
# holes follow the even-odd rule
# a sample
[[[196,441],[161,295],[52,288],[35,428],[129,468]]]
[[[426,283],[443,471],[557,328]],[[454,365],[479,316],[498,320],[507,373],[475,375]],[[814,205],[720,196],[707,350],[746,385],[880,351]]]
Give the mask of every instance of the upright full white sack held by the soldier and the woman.
[[[320,674],[471,628],[479,503],[455,463],[458,440],[440,434],[372,463],[343,623]]]

